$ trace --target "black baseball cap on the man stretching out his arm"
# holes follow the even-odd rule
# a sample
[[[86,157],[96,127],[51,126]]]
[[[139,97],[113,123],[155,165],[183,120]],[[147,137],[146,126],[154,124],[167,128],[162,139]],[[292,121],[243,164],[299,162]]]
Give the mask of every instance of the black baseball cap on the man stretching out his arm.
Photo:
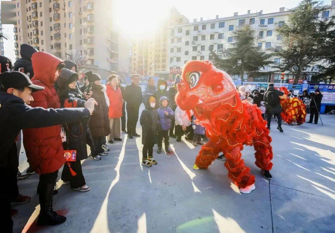
[[[6,92],[9,88],[24,89],[27,86],[32,92],[44,90],[43,86],[35,85],[29,77],[19,71],[7,71],[0,74],[0,91]]]

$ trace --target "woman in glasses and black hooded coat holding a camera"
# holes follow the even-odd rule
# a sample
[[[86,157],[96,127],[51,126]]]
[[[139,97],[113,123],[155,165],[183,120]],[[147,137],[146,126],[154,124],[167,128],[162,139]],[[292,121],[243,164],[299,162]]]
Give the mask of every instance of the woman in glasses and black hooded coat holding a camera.
[[[58,96],[62,108],[75,107],[81,108],[84,106],[85,99],[80,92],[77,85],[78,74],[68,70],[62,69],[57,79],[59,87]],[[71,175],[70,168],[67,164],[64,165],[62,172],[62,180],[64,184],[70,183],[70,187],[77,191],[88,191],[90,188],[85,183],[84,175],[82,174],[80,161],[87,158],[86,148],[86,123],[76,122],[62,125],[66,132],[66,142],[63,142],[64,150],[76,150],[77,156],[75,162],[70,162],[71,169],[77,174]]]

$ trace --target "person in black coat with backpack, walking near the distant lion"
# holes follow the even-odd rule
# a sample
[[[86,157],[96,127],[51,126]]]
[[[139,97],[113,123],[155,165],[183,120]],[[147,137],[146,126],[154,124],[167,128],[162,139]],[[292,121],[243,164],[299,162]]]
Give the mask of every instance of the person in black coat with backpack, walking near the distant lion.
[[[280,113],[283,111],[283,109],[280,106],[280,98],[279,96],[283,96],[284,93],[274,89],[274,83],[269,83],[268,84],[268,89],[264,94],[264,101],[266,103],[266,113],[268,114],[267,116],[267,121],[268,121],[268,129],[270,130],[270,125],[271,125],[271,117],[272,114],[274,114],[277,117],[277,123],[278,127],[277,129],[280,132],[284,132],[284,130],[281,128],[281,116]]]

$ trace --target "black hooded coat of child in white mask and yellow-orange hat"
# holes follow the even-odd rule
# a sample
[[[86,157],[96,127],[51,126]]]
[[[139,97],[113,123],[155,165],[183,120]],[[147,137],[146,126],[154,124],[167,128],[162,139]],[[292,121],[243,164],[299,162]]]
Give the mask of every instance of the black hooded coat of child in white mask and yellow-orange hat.
[[[145,109],[141,113],[140,124],[142,126],[142,144],[154,145],[157,143],[158,113],[150,107],[149,98],[151,94],[143,96]]]

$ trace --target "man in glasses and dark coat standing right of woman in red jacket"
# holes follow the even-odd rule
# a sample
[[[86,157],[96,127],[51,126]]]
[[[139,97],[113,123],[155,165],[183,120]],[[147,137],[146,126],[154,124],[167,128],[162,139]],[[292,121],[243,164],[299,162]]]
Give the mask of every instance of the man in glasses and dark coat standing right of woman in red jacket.
[[[142,90],[138,85],[140,75],[133,74],[131,77],[131,84],[126,87],[125,100],[127,102],[127,133],[129,138],[140,137],[136,132],[136,124],[138,121],[138,111],[142,104]]]

